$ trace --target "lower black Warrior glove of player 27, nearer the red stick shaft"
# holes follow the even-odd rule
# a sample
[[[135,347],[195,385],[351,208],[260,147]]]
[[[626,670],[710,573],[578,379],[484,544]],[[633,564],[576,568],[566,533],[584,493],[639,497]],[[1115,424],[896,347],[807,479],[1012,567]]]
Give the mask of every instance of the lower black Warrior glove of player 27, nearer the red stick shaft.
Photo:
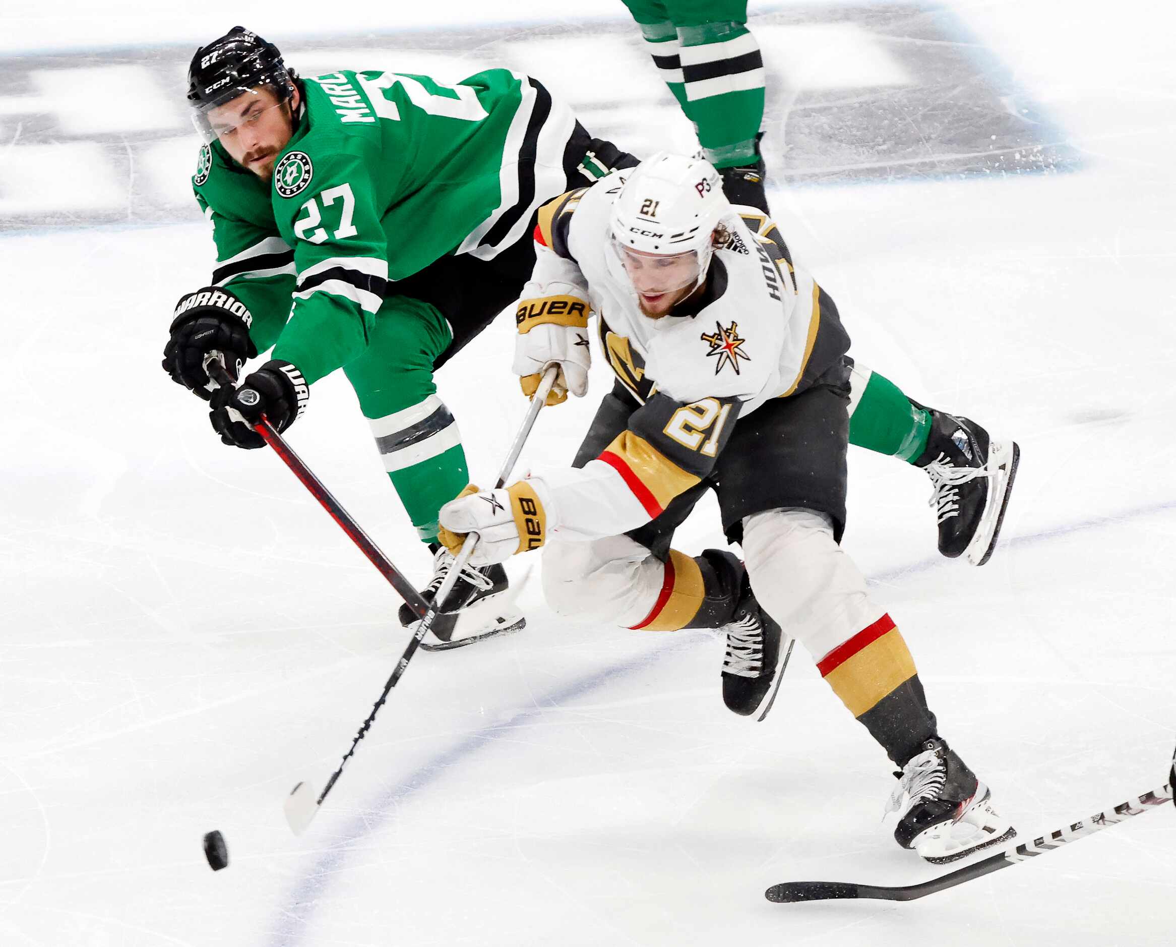
[[[253,429],[261,415],[281,433],[302,416],[309,400],[302,373],[288,361],[273,359],[246,375],[240,388],[213,392],[208,419],[225,444],[252,451],[266,445]]]

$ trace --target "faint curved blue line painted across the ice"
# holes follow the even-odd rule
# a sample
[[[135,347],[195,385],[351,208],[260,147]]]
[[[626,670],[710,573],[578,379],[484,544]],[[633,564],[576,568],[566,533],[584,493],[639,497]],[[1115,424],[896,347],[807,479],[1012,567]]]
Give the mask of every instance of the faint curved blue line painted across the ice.
[[[1108,513],[1078,522],[1063,523],[1038,533],[1010,536],[1004,541],[1000,553],[1008,555],[1013,548],[1018,546],[1035,546],[1083,529],[1114,526],[1128,520],[1143,519],[1169,511],[1176,511],[1176,501],[1149,503],[1125,509],[1121,513]],[[943,556],[934,555],[909,566],[871,575],[869,579],[871,582],[894,581],[904,575],[913,575],[938,566],[947,566],[949,561],[943,559]],[[955,568],[967,567],[955,566]],[[680,646],[680,640],[668,640],[660,648],[643,654],[641,658],[621,661],[601,668],[584,678],[570,681],[566,686],[540,698],[534,707],[520,711],[508,720],[475,731],[460,743],[435,756],[416,772],[405,776],[401,782],[387,789],[370,806],[366,807],[362,815],[353,816],[347,825],[339,829],[338,841],[332,843],[330,848],[315,859],[302,879],[295,885],[294,891],[286,901],[286,906],[279,912],[278,919],[270,929],[269,945],[272,947],[299,947],[302,943],[303,935],[309,928],[310,915],[314,912],[315,905],[326,895],[328,883],[343,867],[343,862],[354,848],[355,842],[379,831],[395,811],[396,802],[407,799],[420,789],[427,788],[439,776],[447,775],[450,766],[490,745],[495,736],[515,729],[533,718],[540,716],[544,711],[560,707],[564,702],[583,696],[606,683],[639,671],[646,671]]]

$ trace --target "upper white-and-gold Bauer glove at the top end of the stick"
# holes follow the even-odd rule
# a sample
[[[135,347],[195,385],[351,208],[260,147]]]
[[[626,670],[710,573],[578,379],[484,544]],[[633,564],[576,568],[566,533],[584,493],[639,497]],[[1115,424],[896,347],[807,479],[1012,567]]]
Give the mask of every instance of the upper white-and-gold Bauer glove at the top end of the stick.
[[[515,313],[519,338],[515,340],[514,372],[522,393],[535,395],[543,369],[557,365],[560,372],[547,395],[548,405],[567,400],[568,392],[583,398],[588,392],[588,304],[576,296],[524,299]]]

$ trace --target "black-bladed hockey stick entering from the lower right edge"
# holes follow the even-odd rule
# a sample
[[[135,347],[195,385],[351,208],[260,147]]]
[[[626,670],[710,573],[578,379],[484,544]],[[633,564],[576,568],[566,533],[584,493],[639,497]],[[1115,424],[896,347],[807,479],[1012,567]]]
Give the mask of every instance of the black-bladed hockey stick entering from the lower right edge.
[[[1174,769],[1174,772],[1176,772],[1176,769]],[[837,898],[873,898],[881,901],[914,901],[916,898],[935,894],[936,892],[944,891],[946,888],[954,888],[956,885],[962,885],[964,881],[983,878],[987,874],[1001,871],[1001,868],[1008,868],[1013,865],[1020,865],[1022,861],[1036,858],[1037,855],[1044,855],[1047,852],[1053,852],[1055,848],[1061,848],[1063,845],[1077,841],[1087,835],[1093,835],[1095,832],[1101,832],[1109,826],[1125,822],[1134,815],[1151,812],[1152,809],[1162,806],[1164,802],[1170,802],[1171,800],[1172,787],[1170,785],[1161,786],[1158,789],[1152,789],[1150,793],[1144,793],[1136,799],[1121,802],[1118,806],[1115,806],[1115,808],[1109,809],[1108,812],[1100,812],[1091,815],[1089,819],[1081,819],[1065,828],[1051,832],[1049,835],[1042,835],[1033,842],[1024,842],[1023,845],[1018,845],[1016,848],[1009,848],[1004,852],[990,855],[982,861],[965,865],[963,868],[948,872],[946,875],[933,878],[930,881],[923,881],[920,885],[882,888],[874,885],[855,885],[844,881],[783,881],[780,885],[773,885],[768,888],[764,892],[764,896],[769,901],[776,901],[777,903],[826,901]]]

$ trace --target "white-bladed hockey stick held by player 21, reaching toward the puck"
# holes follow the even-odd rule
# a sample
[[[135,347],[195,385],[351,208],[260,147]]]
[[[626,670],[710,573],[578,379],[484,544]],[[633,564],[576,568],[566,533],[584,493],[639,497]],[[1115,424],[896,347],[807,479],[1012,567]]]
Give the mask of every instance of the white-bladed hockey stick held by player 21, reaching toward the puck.
[[[510,445],[510,453],[507,455],[507,460],[502,465],[502,472],[499,474],[495,489],[506,485],[507,478],[514,469],[515,461],[519,460],[519,453],[522,451],[522,446],[527,441],[527,435],[530,434],[530,429],[535,425],[535,418],[539,416],[540,409],[547,401],[547,394],[552,391],[552,386],[555,384],[555,376],[557,373],[557,366],[552,366],[543,373],[539,388],[532,399],[530,408],[527,411],[527,418],[523,421],[514,444]],[[265,434],[262,434],[262,436],[265,436]],[[276,433],[274,436],[279,438]],[[392,692],[392,688],[396,686],[396,682],[405,673],[405,668],[408,667],[408,662],[413,659],[413,654],[420,646],[421,639],[433,626],[433,620],[437,614],[436,602],[443,602],[446,598],[448,598],[449,591],[461,575],[461,571],[469,561],[469,556],[474,552],[474,547],[476,545],[477,533],[468,534],[466,536],[466,541],[461,546],[461,552],[457,554],[453,566],[449,567],[449,572],[446,575],[445,581],[441,582],[441,587],[437,589],[437,594],[433,600],[434,605],[426,609],[425,616],[421,619],[420,625],[416,626],[416,631],[413,633],[412,641],[408,642],[408,647],[405,648],[405,653],[400,656],[400,661],[396,662],[396,667],[392,672],[392,676],[385,682],[383,691],[380,692],[380,698],[372,706],[370,713],[368,713],[367,719],[363,721],[362,726],[360,726],[359,733],[355,734],[355,739],[352,740],[352,745],[348,747],[347,753],[343,754],[343,759],[340,761],[338,768],[330,774],[330,779],[327,780],[327,785],[322,787],[321,792],[316,793],[310,785],[303,780],[290,789],[290,794],[286,798],[283,808],[286,812],[286,821],[289,823],[289,827],[295,835],[302,834],[307,826],[310,825],[310,821],[319,812],[319,807],[322,805],[322,800],[327,798],[327,794],[343,774],[343,767],[347,766],[347,761],[355,755],[355,748],[359,746],[360,740],[362,740],[367,735],[367,732],[372,728],[372,723],[375,721],[375,715],[380,713],[380,708],[388,699],[388,694]],[[416,598],[421,598],[415,591],[414,594]],[[412,603],[412,601],[409,601],[409,603]]]

